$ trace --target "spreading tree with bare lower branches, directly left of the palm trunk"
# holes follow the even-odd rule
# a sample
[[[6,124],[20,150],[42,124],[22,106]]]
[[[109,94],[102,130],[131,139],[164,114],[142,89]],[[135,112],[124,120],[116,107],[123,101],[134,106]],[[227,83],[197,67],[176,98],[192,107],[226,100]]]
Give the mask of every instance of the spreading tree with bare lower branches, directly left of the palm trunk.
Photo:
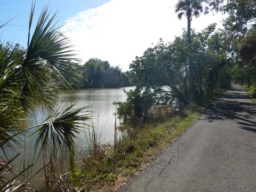
[[[131,76],[138,89],[150,87],[155,103],[187,105],[187,50],[186,39],[175,38],[171,44],[162,40],[131,63]],[[148,90],[150,90],[148,89]]]

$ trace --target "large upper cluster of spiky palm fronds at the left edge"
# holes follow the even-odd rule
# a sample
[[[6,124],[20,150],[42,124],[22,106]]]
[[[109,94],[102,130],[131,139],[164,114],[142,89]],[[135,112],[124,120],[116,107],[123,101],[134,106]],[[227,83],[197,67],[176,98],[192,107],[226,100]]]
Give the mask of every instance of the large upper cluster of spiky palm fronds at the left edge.
[[[60,33],[59,27],[55,27],[56,13],[50,17],[47,6],[44,7],[30,39],[34,9],[35,4],[32,5],[30,12],[26,52],[14,58],[16,55],[5,49],[0,57],[0,62],[5,63],[0,68],[0,91],[18,87],[18,103],[26,111],[34,107],[34,103],[51,108],[56,101],[54,95],[59,89],[58,84],[69,85],[66,76],[72,77],[70,81],[79,81],[75,75],[73,63],[77,59],[72,53],[72,46]]]

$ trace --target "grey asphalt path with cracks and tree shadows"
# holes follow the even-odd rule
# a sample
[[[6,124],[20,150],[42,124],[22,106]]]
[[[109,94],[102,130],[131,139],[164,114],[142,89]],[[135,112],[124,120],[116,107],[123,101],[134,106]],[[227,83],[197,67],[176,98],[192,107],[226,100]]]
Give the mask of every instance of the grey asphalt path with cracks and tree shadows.
[[[119,191],[256,191],[256,105],[233,86]]]

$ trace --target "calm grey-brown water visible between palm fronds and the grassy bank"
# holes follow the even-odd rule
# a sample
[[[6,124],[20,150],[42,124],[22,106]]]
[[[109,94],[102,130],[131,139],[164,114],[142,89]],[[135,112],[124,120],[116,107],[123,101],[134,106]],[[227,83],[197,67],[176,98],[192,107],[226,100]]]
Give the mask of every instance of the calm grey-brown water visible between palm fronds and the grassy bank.
[[[77,107],[85,107],[90,106],[88,110],[93,111],[90,113],[92,115],[92,121],[95,127],[98,127],[98,133],[100,136],[101,143],[108,143],[114,141],[114,127],[115,127],[115,110],[116,107],[113,105],[113,102],[125,101],[126,95],[124,93],[124,89],[126,91],[132,90],[135,87],[125,87],[125,88],[117,88],[117,89],[84,89],[84,90],[76,90],[76,91],[65,91],[59,95],[58,105],[65,103],[65,105],[70,105],[71,103],[76,103]],[[57,106],[58,107],[58,106]],[[43,122],[52,111],[49,111],[45,108],[35,108],[34,111],[31,111],[30,115],[27,116],[29,118],[28,126],[33,126]],[[117,119],[117,125],[119,121]],[[78,135],[79,141],[77,142],[77,148],[86,147],[86,139],[84,129],[81,129],[82,133]],[[7,151],[7,156],[9,158],[13,157],[20,153],[20,156],[15,159],[12,164],[17,167],[19,170],[23,170],[23,163],[26,164],[26,167],[31,163],[34,166],[29,169],[32,173],[39,170],[43,167],[42,157],[39,157],[37,151],[34,150],[34,142],[35,138],[30,137],[21,137],[21,148],[17,148],[14,150]],[[25,145],[22,143],[26,143]],[[26,146],[26,149],[24,147]],[[25,151],[25,153],[24,153]],[[3,155],[2,153],[0,154]],[[34,159],[35,158],[35,159]],[[43,172],[38,173],[35,178],[42,178]],[[31,184],[33,186],[39,186],[43,183],[43,180],[32,179]]]

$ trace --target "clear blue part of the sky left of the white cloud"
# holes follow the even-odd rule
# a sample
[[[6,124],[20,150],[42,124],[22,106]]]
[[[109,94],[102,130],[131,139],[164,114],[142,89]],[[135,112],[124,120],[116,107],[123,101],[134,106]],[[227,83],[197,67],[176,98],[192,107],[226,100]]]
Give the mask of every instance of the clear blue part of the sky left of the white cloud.
[[[49,4],[52,12],[58,11],[59,25],[63,25],[69,17],[77,13],[98,7],[110,0],[37,0],[35,19],[41,10]],[[0,37],[4,41],[19,42],[27,45],[28,19],[33,0],[0,0],[0,21],[13,19],[8,26],[0,30]]]

